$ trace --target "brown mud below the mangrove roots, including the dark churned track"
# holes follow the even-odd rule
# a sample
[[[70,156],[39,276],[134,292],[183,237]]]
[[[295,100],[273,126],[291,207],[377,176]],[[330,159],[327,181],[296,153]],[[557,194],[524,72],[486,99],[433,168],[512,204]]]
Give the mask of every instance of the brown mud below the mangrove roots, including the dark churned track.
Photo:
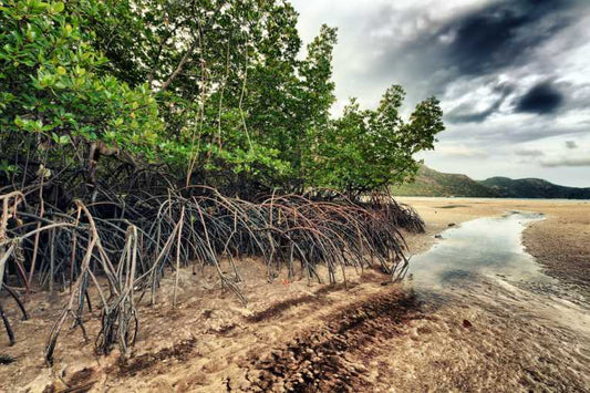
[[[169,279],[163,282],[158,307],[139,308],[143,324],[133,356],[123,359],[116,350],[95,356],[93,342],[85,342],[80,331],[65,330],[52,368],[42,354],[56,309],[44,293],[33,294],[29,321],[19,321],[18,310],[8,310],[18,340],[13,347],[0,340],[0,353],[7,356],[0,364],[0,392],[300,390],[317,370],[321,375],[311,386],[359,386],[362,363],[342,360],[333,366],[332,361],[372,348],[365,340],[396,334],[407,319],[420,314],[400,287],[382,286],[386,277],[379,269],[351,269],[346,283],[332,286],[282,278],[269,283],[265,269],[253,260],[240,267],[248,307],[215,280],[196,280],[184,271],[179,307],[172,309]],[[85,324],[92,338],[100,328],[97,319]],[[300,343],[307,345],[293,361],[290,351]]]

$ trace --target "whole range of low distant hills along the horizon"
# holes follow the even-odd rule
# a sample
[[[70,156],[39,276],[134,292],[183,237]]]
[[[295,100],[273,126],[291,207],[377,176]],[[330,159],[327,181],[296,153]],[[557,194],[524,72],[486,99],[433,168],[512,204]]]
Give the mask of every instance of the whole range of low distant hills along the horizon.
[[[590,188],[558,186],[539,178],[490,177],[474,180],[421,166],[414,183],[392,188],[398,196],[590,199]]]

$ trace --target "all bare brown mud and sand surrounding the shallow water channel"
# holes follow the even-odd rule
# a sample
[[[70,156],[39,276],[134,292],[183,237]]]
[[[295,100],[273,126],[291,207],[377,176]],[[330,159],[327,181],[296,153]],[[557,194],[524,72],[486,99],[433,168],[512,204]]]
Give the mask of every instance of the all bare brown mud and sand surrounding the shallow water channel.
[[[263,266],[245,260],[247,307],[222,291],[214,271],[185,271],[180,306],[173,309],[169,278],[158,304],[139,308],[128,360],[116,351],[94,356],[93,342],[65,330],[48,368],[43,345],[55,301],[34,294],[31,320],[18,321],[6,300],[17,344],[7,347],[0,335],[0,391],[588,391],[590,204],[405,200],[427,223],[425,235],[407,236],[414,254],[449,224],[511,209],[545,213],[547,220],[532,224],[525,242],[549,275],[581,293],[581,304],[495,278],[446,292],[416,290],[412,282],[383,286],[377,270],[349,271],[346,287],[283,278],[269,283]],[[97,321],[86,325],[94,337]]]

